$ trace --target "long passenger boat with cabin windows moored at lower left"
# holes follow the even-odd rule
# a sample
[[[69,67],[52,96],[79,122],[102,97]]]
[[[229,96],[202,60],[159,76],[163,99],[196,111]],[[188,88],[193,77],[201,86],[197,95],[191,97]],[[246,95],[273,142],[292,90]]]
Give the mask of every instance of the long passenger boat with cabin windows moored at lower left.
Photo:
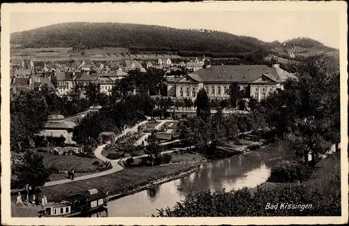
[[[59,203],[49,203],[38,211],[39,217],[79,217],[99,211],[107,212],[107,193],[98,193],[97,189],[87,190],[82,195],[71,195]]]

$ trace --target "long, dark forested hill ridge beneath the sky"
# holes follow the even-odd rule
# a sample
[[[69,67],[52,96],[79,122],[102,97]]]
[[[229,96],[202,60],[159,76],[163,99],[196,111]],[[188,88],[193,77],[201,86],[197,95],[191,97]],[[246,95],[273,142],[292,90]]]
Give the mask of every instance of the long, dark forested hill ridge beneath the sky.
[[[22,47],[131,47],[144,51],[252,52],[265,43],[257,38],[235,36],[208,30],[169,27],[71,22],[54,24],[30,31],[12,33],[10,43]]]

